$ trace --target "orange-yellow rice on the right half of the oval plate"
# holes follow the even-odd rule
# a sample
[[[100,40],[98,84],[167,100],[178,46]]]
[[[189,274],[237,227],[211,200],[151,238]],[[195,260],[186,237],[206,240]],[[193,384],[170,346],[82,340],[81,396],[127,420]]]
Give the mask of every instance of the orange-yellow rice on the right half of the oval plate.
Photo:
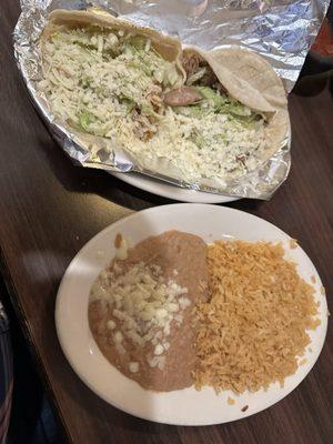
[[[297,370],[320,321],[314,289],[281,244],[218,241],[208,248],[211,300],[198,305],[195,387],[268,389]]]

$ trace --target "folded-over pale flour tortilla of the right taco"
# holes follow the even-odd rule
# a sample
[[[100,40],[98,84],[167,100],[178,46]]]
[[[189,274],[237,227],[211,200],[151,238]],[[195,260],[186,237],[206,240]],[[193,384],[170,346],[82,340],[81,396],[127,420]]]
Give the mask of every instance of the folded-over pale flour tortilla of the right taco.
[[[290,130],[286,94],[278,73],[260,56],[242,48],[183,49],[183,56],[191,54],[211,67],[232,98],[266,118],[268,149],[260,155],[266,162],[285,143]]]

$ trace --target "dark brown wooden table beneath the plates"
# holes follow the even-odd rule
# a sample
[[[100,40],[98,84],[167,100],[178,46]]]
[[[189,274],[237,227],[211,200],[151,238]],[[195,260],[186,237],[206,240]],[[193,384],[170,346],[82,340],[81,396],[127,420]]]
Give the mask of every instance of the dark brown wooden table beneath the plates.
[[[0,2],[0,246],[27,340],[70,442],[333,442],[333,327],[306,380],[268,411],[232,424],[175,427],[127,415],[95,396],[67,363],[54,329],[60,280],[74,254],[100,230],[133,210],[168,200],[107,173],[73,167],[36,113],[12,54],[18,1]],[[270,202],[231,206],[258,214],[296,238],[333,291],[333,107],[325,91],[290,98],[293,167]]]

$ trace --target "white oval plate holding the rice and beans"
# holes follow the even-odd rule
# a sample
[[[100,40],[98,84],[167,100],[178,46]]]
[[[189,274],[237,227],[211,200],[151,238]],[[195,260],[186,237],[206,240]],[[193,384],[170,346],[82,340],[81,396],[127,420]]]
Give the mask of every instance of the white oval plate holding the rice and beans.
[[[299,273],[310,282],[315,275],[315,299],[320,302],[321,325],[310,332],[307,362],[285,380],[283,389],[273,384],[256,393],[235,396],[223,392],[219,396],[210,387],[196,392],[193,387],[170,393],[154,393],[123,376],[98,349],[88,325],[89,290],[102,268],[114,254],[118,232],[135,243],[149,235],[178,229],[202,236],[205,241],[238,238],[248,241],[282,241],[287,256],[297,263]],[[228,208],[202,204],[173,204],[134,213],[100,232],[78,253],[61,282],[56,309],[56,324],[62,350],[82,381],[99,396],[132,415],[168,424],[208,425],[235,421],[260,412],[286,396],[306,376],[322,350],[326,327],[326,300],[321,294],[321,280],[311,260],[301,248],[290,250],[289,235],[254,215]],[[101,256],[101,251],[104,254]],[[234,405],[226,403],[228,396]],[[241,408],[249,405],[246,412]]]

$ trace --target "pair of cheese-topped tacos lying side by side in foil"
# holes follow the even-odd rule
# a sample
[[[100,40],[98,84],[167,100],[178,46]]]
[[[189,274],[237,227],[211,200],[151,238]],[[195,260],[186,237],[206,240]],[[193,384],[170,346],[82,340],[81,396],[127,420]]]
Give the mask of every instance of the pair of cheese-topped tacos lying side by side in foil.
[[[50,14],[40,46],[51,112],[142,169],[213,184],[259,168],[286,137],[282,82],[249,51],[182,50],[105,12],[64,10]]]

